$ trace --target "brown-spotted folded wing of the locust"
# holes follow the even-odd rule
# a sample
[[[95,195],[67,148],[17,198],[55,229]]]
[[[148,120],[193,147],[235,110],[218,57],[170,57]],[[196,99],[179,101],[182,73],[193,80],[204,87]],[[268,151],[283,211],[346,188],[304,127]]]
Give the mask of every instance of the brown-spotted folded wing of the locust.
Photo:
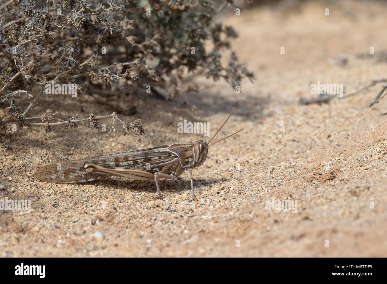
[[[168,146],[161,146],[139,151],[97,156],[84,160],[52,163],[38,168],[35,172],[35,177],[38,180],[53,183],[88,182],[109,177],[110,175],[86,172],[84,168],[86,163],[93,163],[107,168],[142,168],[152,172],[153,169],[160,169],[176,159],[178,157],[168,151]]]

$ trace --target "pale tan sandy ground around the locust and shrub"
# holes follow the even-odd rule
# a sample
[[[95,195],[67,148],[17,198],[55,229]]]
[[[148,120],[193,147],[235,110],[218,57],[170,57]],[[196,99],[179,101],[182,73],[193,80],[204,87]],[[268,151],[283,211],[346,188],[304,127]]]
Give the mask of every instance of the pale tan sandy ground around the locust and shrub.
[[[239,17],[227,10],[223,22],[240,32],[234,47],[257,80],[243,82],[236,94],[224,82],[198,78],[199,94],[168,102],[146,98],[134,116],[118,114],[142,119],[147,135],[140,145],[125,136],[89,134],[86,124],[56,127],[46,137],[38,128],[8,134],[0,148],[0,199],[31,199],[33,211],[0,211],[0,255],[386,257],[387,118],[381,114],[387,99],[366,107],[383,83],[345,97],[387,77],[380,60],[386,9],[308,2],[255,6]],[[348,58],[344,66],[336,60],[341,54]],[[344,97],[299,104],[300,97],[313,97],[310,84],[317,81],[342,83]],[[86,95],[61,105],[48,100],[31,114],[46,108],[63,118],[112,112],[96,104],[86,109],[89,102]],[[154,182],[131,187],[112,178],[50,189],[34,180],[34,171],[49,162],[206,140],[177,133],[177,123],[209,122],[211,136],[233,105],[219,138],[246,130],[210,148],[193,172],[195,186],[204,189],[193,200],[185,174],[161,183],[163,199],[156,199]],[[267,210],[273,198],[297,201],[297,211]]]

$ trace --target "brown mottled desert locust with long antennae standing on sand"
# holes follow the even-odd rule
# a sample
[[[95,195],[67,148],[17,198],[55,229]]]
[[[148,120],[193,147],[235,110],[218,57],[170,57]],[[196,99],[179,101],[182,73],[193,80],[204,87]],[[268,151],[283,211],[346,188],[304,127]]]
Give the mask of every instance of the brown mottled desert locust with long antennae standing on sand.
[[[233,110],[212,139],[228,121]],[[209,147],[240,131],[211,145],[209,144],[212,139],[208,143],[198,140],[193,144],[172,144],[84,160],[52,163],[38,168],[35,177],[43,182],[53,183],[88,182],[113,175],[143,181],[154,179],[158,196],[160,196],[158,180],[176,180],[185,170],[191,181],[192,197],[195,197],[192,168],[198,168],[204,163]]]

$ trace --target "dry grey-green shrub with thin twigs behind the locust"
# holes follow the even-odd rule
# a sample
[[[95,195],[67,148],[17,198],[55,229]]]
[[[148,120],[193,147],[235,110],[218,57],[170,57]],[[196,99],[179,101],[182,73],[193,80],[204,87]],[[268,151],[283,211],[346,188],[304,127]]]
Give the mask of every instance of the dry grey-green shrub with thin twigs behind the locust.
[[[90,113],[79,119],[71,113],[61,119],[60,107],[29,116],[54,94],[51,89],[47,92],[51,82],[73,84],[77,93],[90,95],[99,104],[125,100],[135,112],[147,90],[164,99],[180,95],[184,75],[198,68],[207,78],[224,78],[233,88],[243,77],[252,79],[253,73],[233,52],[229,63],[221,64],[222,52],[238,37],[232,26],[213,22],[223,8],[210,0],[1,0],[2,132],[11,123],[43,126],[45,133],[51,126],[76,126],[80,121],[97,128],[105,116]],[[207,39],[213,44],[208,52]],[[70,94],[65,91],[55,89],[58,105],[64,94]],[[71,94],[76,99],[77,94]],[[91,106],[84,108],[88,111]],[[121,122],[124,134],[140,141],[144,133],[140,120],[128,123],[116,114],[110,116]]]

